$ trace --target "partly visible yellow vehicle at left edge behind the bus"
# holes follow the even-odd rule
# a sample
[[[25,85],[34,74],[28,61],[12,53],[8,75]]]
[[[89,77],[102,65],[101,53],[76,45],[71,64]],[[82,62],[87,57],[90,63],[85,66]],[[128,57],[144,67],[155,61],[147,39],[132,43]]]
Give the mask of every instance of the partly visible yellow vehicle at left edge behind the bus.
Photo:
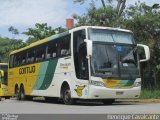
[[[9,98],[8,93],[8,64],[0,63],[0,97]]]

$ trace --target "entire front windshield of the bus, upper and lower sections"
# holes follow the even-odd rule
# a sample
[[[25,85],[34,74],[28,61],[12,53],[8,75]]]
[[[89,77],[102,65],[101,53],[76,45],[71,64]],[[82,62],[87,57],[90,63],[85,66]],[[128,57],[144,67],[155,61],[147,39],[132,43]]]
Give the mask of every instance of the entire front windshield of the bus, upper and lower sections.
[[[89,33],[93,40],[92,76],[113,79],[140,77],[136,46],[131,33],[97,29]]]

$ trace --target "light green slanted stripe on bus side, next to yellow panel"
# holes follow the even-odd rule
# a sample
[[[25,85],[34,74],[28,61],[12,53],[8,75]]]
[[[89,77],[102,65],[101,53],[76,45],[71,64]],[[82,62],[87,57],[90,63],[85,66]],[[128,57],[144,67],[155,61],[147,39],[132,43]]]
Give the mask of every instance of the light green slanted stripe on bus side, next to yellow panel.
[[[42,86],[42,83],[45,79],[48,63],[49,63],[48,61],[41,63],[39,72],[38,72],[38,77],[34,86],[34,90],[38,90]]]

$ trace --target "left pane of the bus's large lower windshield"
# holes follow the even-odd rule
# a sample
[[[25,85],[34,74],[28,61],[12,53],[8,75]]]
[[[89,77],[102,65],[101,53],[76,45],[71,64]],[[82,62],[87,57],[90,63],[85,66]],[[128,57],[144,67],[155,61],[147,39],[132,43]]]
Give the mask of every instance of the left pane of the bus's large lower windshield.
[[[118,61],[114,45],[93,44],[91,60],[92,74],[96,76],[118,77]]]

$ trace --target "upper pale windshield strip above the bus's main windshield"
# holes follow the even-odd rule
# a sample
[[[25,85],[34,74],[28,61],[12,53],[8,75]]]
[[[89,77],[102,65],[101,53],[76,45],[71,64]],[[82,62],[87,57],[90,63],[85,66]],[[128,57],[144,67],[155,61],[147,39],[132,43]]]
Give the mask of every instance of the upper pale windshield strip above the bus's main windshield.
[[[89,37],[92,41],[134,44],[133,34],[130,32],[89,29]]]

